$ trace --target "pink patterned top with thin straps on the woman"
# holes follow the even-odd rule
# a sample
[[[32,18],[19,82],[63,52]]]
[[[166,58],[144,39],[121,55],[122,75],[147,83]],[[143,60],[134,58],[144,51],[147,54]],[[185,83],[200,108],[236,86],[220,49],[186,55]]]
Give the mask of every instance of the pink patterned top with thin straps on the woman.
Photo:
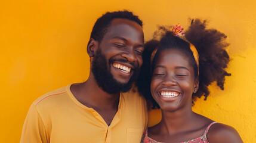
[[[189,141],[183,141],[181,143],[209,143],[208,139],[207,139],[207,133],[208,133],[208,130],[209,128],[215,124],[217,122],[212,122],[205,130],[205,133],[203,133],[202,136],[199,136],[198,138],[195,138],[195,139],[191,139]],[[143,133],[143,137],[141,139],[141,143],[164,143],[164,142],[158,142],[158,141],[155,141],[154,139],[152,138],[149,138],[149,136],[147,136],[147,129],[144,131]]]

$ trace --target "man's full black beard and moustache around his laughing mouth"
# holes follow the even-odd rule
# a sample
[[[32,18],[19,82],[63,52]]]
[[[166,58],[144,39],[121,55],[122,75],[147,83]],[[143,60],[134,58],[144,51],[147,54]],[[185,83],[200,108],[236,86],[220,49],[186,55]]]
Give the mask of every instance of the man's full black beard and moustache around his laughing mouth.
[[[109,59],[109,67],[107,67],[106,57],[101,53],[101,50],[96,51],[95,57],[92,61],[91,71],[94,74],[94,78],[98,86],[109,94],[116,94],[119,92],[128,92],[132,87],[132,83],[138,77],[139,69],[134,63],[129,63],[134,66],[134,71],[130,77],[128,83],[121,83],[114,79],[112,73],[110,73],[110,67],[113,61],[121,61],[127,63],[124,59]]]

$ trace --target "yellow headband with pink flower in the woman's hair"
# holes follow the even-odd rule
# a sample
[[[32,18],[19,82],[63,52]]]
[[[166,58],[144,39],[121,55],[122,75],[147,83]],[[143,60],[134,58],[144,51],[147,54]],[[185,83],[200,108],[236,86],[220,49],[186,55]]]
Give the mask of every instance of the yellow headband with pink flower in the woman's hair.
[[[196,61],[196,66],[198,67],[198,75],[199,75],[199,55],[198,55],[198,51],[196,50],[196,47],[190,43],[189,41],[187,41],[187,39],[185,38],[185,33],[183,32],[183,27],[180,26],[180,23],[176,24],[173,28],[172,28],[172,33],[174,34],[174,36],[178,36],[181,39],[183,39],[184,41],[189,43],[190,46],[190,50],[193,53],[193,57],[195,58]],[[153,58],[155,57],[156,52],[158,51],[158,48],[154,49],[154,51],[152,52],[152,55],[150,57],[150,61],[152,64]]]

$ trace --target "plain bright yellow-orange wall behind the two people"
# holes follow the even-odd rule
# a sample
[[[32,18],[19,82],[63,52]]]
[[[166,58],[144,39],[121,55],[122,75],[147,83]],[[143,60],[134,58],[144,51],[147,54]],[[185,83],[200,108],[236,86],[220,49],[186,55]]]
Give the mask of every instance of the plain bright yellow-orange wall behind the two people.
[[[158,24],[206,18],[228,36],[232,61],[224,91],[211,86],[193,110],[233,126],[244,142],[256,140],[256,1],[39,0],[0,1],[0,141],[19,142],[30,104],[89,73],[86,52],[95,20],[106,11],[131,10],[149,40]],[[153,114],[155,116],[156,114]],[[152,122],[150,122],[152,124]]]

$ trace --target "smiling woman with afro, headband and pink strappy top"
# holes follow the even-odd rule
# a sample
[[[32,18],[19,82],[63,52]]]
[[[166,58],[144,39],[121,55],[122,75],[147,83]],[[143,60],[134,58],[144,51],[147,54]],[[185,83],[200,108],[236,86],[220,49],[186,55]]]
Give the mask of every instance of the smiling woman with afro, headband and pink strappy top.
[[[146,43],[138,91],[152,108],[161,108],[162,120],[145,130],[141,142],[242,142],[238,132],[192,111],[196,98],[209,95],[212,82],[223,90],[229,54],[226,35],[206,29],[206,21],[192,20],[183,32],[159,27],[160,39]]]

